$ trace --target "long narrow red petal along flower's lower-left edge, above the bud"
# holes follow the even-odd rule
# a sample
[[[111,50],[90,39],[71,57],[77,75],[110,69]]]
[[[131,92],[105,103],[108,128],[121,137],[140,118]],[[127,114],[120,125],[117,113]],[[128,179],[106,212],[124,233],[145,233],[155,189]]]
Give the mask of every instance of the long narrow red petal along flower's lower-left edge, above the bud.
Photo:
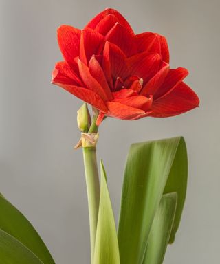
[[[63,89],[69,91],[69,93],[74,94],[74,96],[91,104],[93,107],[96,107],[96,109],[104,113],[107,112],[107,107],[104,104],[103,100],[100,98],[100,96],[98,96],[98,94],[94,93],[94,91],[91,91],[83,87],[78,87],[76,85],[65,85],[63,83],[54,83],[54,84],[59,85]]]

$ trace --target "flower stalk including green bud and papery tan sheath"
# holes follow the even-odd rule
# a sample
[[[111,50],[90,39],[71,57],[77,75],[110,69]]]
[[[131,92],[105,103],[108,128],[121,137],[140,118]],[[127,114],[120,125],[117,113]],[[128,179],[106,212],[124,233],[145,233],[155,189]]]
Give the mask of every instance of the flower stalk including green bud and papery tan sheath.
[[[97,113],[94,111],[94,118],[91,122],[91,116],[86,103],[77,111],[77,123],[82,136],[75,148],[80,146],[83,147],[85,179],[89,205],[91,263],[94,263],[94,248],[96,243],[96,229],[100,200],[100,184],[96,159],[96,143],[98,141],[98,126],[96,126],[96,118]]]

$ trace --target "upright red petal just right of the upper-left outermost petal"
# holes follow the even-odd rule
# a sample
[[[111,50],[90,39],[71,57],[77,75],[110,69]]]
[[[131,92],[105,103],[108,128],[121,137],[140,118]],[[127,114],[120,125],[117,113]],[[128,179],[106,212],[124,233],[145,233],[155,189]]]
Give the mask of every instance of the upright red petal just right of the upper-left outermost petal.
[[[101,45],[103,45],[104,36],[91,30],[91,28],[85,28],[82,30],[80,38],[80,60],[87,65],[91,56],[97,54]]]

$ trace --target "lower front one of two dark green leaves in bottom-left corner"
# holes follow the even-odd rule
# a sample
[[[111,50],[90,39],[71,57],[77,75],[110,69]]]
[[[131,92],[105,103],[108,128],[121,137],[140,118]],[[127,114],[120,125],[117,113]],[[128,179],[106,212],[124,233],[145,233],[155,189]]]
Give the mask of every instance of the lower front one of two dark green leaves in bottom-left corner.
[[[0,264],[43,264],[21,242],[0,229]]]

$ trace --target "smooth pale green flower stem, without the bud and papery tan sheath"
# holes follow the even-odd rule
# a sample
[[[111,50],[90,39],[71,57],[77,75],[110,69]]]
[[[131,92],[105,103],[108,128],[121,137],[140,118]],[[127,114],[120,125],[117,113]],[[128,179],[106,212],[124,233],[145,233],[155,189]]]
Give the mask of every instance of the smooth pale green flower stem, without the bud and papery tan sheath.
[[[93,120],[89,133],[97,133],[98,126]],[[85,179],[87,184],[87,197],[89,206],[89,227],[91,243],[91,263],[94,261],[94,248],[96,242],[96,228],[98,221],[98,208],[100,199],[100,184],[98,176],[98,166],[96,159],[96,147],[84,147],[83,158],[85,166]]]

